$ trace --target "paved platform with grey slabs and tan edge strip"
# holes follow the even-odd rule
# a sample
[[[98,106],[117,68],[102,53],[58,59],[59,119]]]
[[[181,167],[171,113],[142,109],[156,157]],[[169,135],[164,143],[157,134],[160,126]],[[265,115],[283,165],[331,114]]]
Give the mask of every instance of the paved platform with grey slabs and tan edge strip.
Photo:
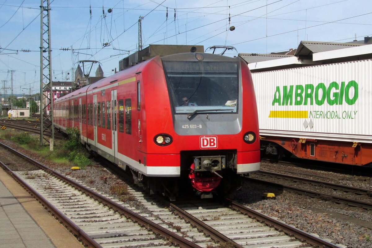
[[[0,248],[83,248],[0,168]]]

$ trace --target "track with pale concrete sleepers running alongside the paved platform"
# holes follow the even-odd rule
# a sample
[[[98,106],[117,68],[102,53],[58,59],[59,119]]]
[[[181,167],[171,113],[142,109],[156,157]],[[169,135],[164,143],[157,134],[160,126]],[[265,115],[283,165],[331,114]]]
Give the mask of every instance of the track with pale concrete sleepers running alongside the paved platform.
[[[8,151],[16,157],[1,162],[56,219],[88,247],[199,247],[177,233],[146,219],[135,209],[122,206],[87,187],[1,144],[1,160]],[[22,157],[22,161],[20,162]],[[19,166],[19,164],[22,164]],[[27,168],[29,167],[29,168]]]

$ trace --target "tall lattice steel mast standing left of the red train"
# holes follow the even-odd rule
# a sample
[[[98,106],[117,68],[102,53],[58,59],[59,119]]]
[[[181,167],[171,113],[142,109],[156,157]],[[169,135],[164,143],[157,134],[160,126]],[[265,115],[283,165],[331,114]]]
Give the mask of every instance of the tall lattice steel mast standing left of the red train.
[[[40,145],[54,145],[52,47],[50,42],[49,0],[41,0],[41,44],[40,44]],[[49,113],[48,113],[49,107]],[[50,129],[51,138],[44,135]]]

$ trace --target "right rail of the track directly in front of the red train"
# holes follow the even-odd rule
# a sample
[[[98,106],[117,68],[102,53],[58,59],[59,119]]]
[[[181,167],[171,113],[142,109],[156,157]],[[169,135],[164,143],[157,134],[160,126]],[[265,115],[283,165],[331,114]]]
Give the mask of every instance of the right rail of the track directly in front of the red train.
[[[314,245],[316,247],[324,247],[324,248],[341,248],[336,244],[332,244],[324,239],[318,238],[317,236],[311,235],[310,233],[301,231],[294,226],[288,225],[286,223],[280,222],[279,220],[270,218],[269,216],[264,215],[263,213],[257,212],[253,209],[250,209],[240,203],[234,202],[230,199],[224,199],[224,202],[230,206],[232,209],[238,210],[241,213],[248,215],[250,218],[254,218],[260,222],[264,222],[269,226],[277,230],[281,230],[287,235],[293,235],[295,238],[307,242],[310,245]]]

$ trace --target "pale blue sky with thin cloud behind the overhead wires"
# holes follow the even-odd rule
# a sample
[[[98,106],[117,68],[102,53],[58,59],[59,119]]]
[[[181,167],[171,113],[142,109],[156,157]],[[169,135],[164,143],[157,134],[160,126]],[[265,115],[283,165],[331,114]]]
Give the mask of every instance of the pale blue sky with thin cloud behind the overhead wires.
[[[140,16],[143,47],[234,46],[237,52],[227,56],[238,52],[288,51],[301,40],[348,42],[355,35],[357,40],[372,36],[370,0],[50,0],[50,3],[55,81],[71,81],[71,68],[74,71],[79,60],[99,61],[105,76],[113,74],[120,59],[137,51]],[[10,87],[8,71],[12,70],[15,94],[28,94],[29,88],[32,93],[40,91],[40,5],[38,0],[0,0],[1,94],[3,80]],[[230,26],[235,26],[235,30],[230,31]],[[103,46],[104,43],[108,45]],[[91,76],[96,68],[94,64]]]

